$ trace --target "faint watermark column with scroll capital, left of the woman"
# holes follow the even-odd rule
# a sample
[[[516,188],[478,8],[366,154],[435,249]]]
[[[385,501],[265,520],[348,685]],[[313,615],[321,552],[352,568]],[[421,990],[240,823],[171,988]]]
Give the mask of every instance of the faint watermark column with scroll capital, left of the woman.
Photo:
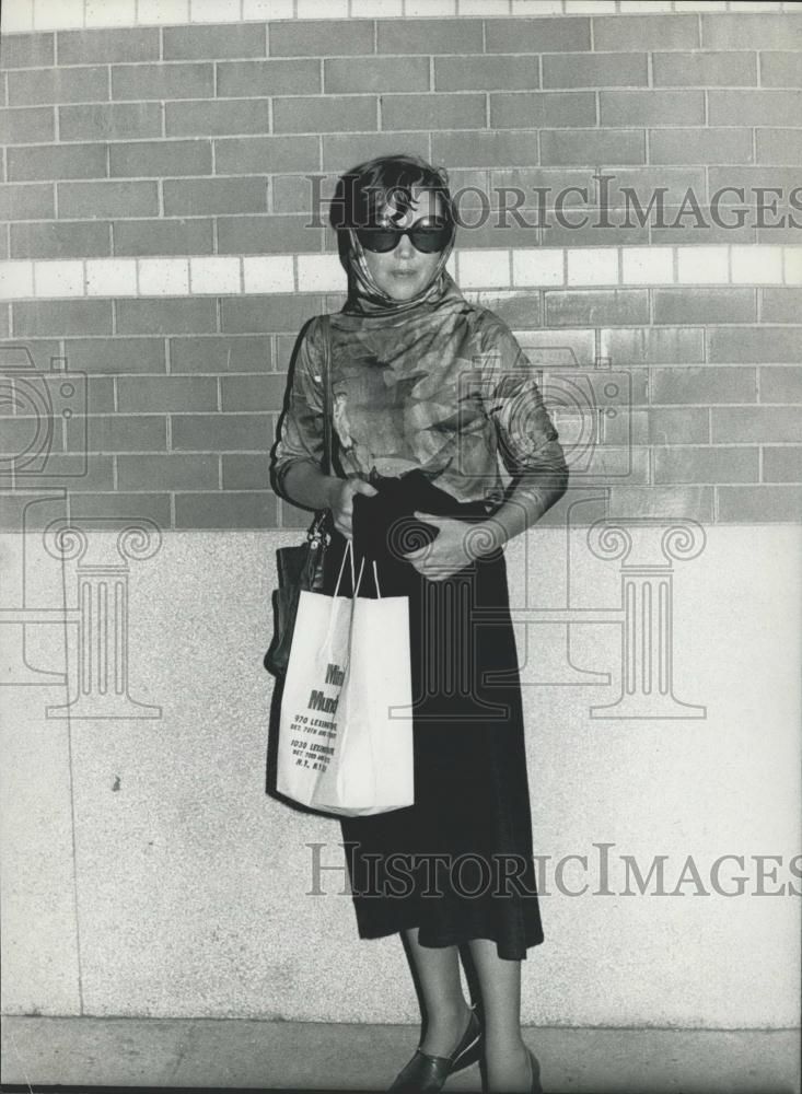
[[[63,612],[65,622],[78,626],[78,689],[69,702],[48,707],[47,717],[161,718],[161,707],[139,702],[128,690],[128,560],[152,558],[161,532],[147,520],[121,529],[116,517],[82,517],[80,525],[55,521],[44,535],[48,555],[78,563],[77,607]],[[117,529],[109,534],[103,525]],[[97,534],[89,537],[88,526]]]

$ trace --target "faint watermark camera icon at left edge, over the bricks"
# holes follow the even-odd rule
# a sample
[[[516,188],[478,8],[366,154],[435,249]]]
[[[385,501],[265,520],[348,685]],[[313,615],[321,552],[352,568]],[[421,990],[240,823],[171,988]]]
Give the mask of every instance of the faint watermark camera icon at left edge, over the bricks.
[[[0,479],[74,478],[86,474],[86,374],[67,359],[36,368],[26,346],[0,347]],[[68,462],[54,455],[69,454]]]

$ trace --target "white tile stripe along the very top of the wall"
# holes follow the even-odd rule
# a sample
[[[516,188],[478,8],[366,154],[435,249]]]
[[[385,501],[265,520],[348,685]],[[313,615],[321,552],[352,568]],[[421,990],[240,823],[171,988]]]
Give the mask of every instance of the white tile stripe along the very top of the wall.
[[[284,19],[443,19],[643,12],[799,12],[799,0],[3,0],[0,30],[240,23]]]

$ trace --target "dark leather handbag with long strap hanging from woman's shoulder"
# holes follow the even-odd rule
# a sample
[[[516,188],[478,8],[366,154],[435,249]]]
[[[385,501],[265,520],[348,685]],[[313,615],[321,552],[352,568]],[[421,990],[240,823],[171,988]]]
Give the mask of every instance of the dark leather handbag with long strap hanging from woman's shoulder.
[[[324,416],[321,469],[329,475],[332,473],[332,348],[328,316],[324,315],[322,322]],[[330,510],[322,510],[315,514],[306,532],[305,543],[297,547],[279,547],[276,551],[278,589],[272,593],[275,632],[264,660],[265,668],[274,676],[283,677],[287,673],[301,590],[319,592],[323,589],[326,547],[330,542],[333,528]]]

